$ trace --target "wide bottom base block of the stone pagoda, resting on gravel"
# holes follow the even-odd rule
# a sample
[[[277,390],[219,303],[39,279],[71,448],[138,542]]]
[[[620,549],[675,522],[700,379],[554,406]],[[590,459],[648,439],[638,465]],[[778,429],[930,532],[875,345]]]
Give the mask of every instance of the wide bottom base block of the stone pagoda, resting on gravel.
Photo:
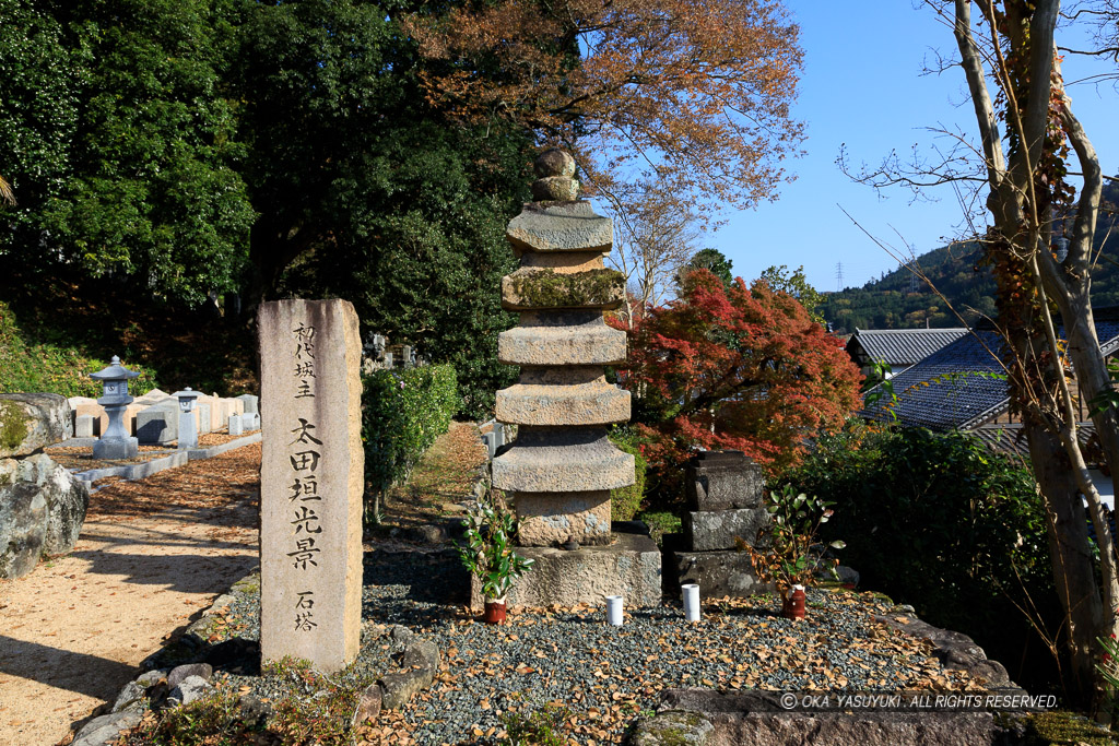
[[[640,525],[638,525],[640,526]],[[632,523],[614,523],[617,539],[606,547],[575,551],[551,547],[520,547],[517,554],[535,559],[507,596],[511,606],[573,606],[579,603],[605,607],[606,596],[622,596],[626,608],[660,603],[660,550]],[[481,584],[471,576],[470,605],[481,611]]]

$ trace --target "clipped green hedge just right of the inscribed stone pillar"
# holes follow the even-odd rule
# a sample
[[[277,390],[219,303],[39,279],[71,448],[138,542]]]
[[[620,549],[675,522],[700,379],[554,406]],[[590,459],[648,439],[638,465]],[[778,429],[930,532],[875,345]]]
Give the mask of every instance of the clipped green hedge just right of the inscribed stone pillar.
[[[450,427],[461,406],[459,384],[449,365],[377,370],[361,383],[366,495],[379,497],[407,479]]]

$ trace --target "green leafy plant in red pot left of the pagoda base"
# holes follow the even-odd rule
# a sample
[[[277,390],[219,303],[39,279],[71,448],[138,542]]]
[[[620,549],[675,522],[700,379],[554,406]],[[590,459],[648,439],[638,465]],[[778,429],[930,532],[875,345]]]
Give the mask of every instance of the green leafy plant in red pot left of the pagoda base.
[[[459,544],[459,557],[482,584],[488,602],[501,601],[514,580],[533,567],[513,550],[517,536],[517,517],[492,493],[478,502],[467,514],[466,544]]]

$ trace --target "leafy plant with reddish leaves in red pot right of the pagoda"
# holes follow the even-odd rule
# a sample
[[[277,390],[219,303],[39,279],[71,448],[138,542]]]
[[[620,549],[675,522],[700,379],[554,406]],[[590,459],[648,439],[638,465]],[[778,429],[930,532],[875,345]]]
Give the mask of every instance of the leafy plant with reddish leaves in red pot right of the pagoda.
[[[838,577],[838,560],[825,559],[812,551],[816,533],[835,512],[833,504],[790,485],[770,493],[765,506],[770,523],[758,532],[758,546],[762,549],[736,539],[739,548],[750,553],[750,563],[762,583],[773,583],[783,596],[794,585],[811,585],[817,570],[825,569]],[[843,549],[847,545],[833,541],[828,546]]]

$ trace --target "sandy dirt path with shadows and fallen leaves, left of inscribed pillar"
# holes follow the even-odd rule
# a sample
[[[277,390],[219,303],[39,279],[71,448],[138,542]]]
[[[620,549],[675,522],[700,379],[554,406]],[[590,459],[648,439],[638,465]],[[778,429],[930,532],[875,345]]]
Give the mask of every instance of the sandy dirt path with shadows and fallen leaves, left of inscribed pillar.
[[[261,446],[115,482],[74,550],[0,580],[0,745],[49,746],[257,564]]]

